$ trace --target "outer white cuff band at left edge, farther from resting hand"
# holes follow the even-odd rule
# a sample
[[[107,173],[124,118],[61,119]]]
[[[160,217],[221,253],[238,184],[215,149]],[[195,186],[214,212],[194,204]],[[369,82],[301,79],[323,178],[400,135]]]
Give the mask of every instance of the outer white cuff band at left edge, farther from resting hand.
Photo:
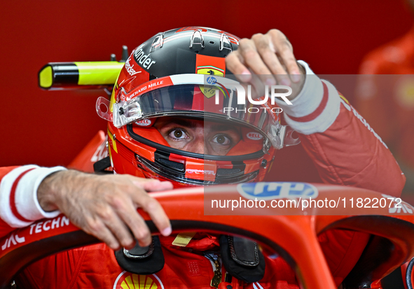
[[[12,213],[10,207],[10,195],[15,180],[18,179],[22,173],[25,173],[27,170],[31,170],[33,168],[39,168],[39,166],[29,165],[15,168],[10,173],[5,175],[0,182],[0,217],[11,227],[26,227],[31,224],[31,222],[19,220],[18,217]]]

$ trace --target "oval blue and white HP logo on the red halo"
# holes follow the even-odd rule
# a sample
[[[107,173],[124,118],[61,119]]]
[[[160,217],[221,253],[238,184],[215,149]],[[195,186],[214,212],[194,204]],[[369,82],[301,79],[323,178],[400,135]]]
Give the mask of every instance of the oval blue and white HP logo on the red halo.
[[[246,199],[274,200],[316,198],[318,190],[306,182],[249,182],[237,184],[237,191]]]

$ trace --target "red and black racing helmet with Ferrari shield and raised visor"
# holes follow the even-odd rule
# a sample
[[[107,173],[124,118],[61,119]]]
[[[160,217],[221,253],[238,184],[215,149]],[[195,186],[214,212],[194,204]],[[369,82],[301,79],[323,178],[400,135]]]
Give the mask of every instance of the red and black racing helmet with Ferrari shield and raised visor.
[[[217,29],[184,27],[158,33],[132,51],[111,101],[97,102],[99,116],[109,120],[116,173],[170,180],[175,187],[263,180],[275,149],[284,145],[286,127],[280,125],[281,109],[263,98],[261,104],[241,103],[244,89],[228,77],[224,59],[239,41]],[[109,107],[106,112],[102,104]],[[183,121],[209,123],[237,137],[226,154],[171,146],[160,126]],[[174,137],[181,138],[177,131],[172,130]],[[209,137],[204,130],[205,139],[213,145],[227,142],[226,136]]]

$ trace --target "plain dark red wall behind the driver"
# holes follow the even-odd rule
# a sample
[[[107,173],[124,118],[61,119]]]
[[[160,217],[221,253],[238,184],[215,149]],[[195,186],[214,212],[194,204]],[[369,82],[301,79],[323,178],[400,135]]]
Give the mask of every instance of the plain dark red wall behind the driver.
[[[95,112],[104,92],[38,88],[47,62],[109,60],[111,53],[119,59],[122,45],[132,51],[175,27],[216,27],[240,37],[277,28],[317,74],[356,74],[364,54],[412,23],[402,0],[2,1],[0,166],[67,165],[105,128]],[[279,155],[277,179],[317,180],[300,147]]]

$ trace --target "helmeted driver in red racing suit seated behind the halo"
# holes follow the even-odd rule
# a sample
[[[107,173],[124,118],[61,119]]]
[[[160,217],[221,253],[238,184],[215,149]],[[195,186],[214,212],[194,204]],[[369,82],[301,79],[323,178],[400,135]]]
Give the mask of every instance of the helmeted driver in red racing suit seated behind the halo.
[[[235,79],[220,80],[231,73]],[[216,86],[206,85],[214,84],[209,76]],[[253,84],[257,91],[257,82],[280,84],[292,93],[272,102],[256,98],[247,112],[245,106],[237,112],[232,103],[235,81]],[[287,263],[265,253],[264,276],[250,282],[234,274],[228,279],[226,268],[220,267],[223,256],[216,253],[219,238],[198,233],[184,244],[177,242],[180,234],[170,236],[163,208],[147,194],[263,180],[276,150],[296,143],[280,124],[277,107],[298,132],[324,182],[393,196],[401,194],[405,182],[380,137],[331,83],[296,61],[291,43],[277,29],[251,39],[206,27],[156,34],[132,51],[111,101],[99,101],[109,107],[108,112],[97,111],[109,121],[115,174],[34,165],[0,168],[0,236],[64,213],[104,242],[31,264],[17,276],[22,288],[212,288],[217,270],[223,271],[219,283],[233,288],[298,288]],[[123,271],[112,252],[133,250],[135,239],[142,247],[152,243],[137,208],[149,213],[159,229],[165,257],[163,269],[146,274]],[[352,231],[319,236],[337,285],[368,237]]]

